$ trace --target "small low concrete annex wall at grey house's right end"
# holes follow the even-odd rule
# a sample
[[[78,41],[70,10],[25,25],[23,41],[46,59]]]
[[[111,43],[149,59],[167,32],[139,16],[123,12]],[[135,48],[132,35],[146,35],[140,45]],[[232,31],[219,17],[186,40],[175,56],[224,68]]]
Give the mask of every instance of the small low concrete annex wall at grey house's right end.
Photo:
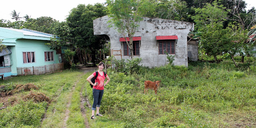
[[[190,40],[188,42],[188,58],[191,61],[198,60],[198,40]]]

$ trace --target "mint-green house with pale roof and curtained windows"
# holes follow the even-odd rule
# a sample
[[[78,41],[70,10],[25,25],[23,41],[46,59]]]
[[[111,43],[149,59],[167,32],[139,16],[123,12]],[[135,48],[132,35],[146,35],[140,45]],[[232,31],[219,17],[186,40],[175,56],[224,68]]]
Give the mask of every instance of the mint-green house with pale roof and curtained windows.
[[[60,54],[45,45],[52,37],[52,34],[29,29],[0,27],[0,40],[7,46],[0,53],[0,74],[7,77],[55,70],[54,65],[48,66],[60,64]]]

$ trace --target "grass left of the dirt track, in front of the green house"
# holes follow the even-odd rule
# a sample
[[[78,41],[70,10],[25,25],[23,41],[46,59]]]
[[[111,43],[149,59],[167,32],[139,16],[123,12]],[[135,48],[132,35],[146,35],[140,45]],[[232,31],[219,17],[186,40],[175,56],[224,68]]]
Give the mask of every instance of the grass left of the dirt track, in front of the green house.
[[[52,101],[47,103],[19,102],[16,105],[8,106],[0,110],[0,127],[31,127],[31,128],[60,128],[63,126],[63,118],[66,111],[67,101],[70,96],[70,90],[76,80],[82,75],[82,72],[75,70],[64,70],[48,75],[39,76],[17,76],[8,80],[1,81],[0,84],[13,86],[15,84],[33,83],[38,86],[38,92],[44,93]],[[74,79],[75,78],[75,79]],[[14,94],[15,97],[21,97],[22,100],[28,92]],[[23,104],[30,105],[23,105]],[[32,107],[31,106],[36,106]],[[24,111],[21,111],[24,109]],[[8,116],[8,117],[6,117]],[[46,117],[42,120],[43,117]],[[17,118],[21,118],[20,120]]]

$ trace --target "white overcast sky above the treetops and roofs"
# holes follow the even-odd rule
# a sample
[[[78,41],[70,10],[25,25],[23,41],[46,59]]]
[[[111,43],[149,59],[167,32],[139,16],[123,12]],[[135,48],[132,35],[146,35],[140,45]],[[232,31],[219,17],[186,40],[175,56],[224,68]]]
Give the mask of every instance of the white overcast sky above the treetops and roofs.
[[[78,4],[104,3],[106,0],[0,0],[0,19],[10,20],[13,10],[19,16],[31,16],[31,18],[39,18],[41,16],[52,17],[56,20],[65,21],[72,8],[76,8]],[[248,4],[246,10],[256,7],[256,0],[245,0]]]

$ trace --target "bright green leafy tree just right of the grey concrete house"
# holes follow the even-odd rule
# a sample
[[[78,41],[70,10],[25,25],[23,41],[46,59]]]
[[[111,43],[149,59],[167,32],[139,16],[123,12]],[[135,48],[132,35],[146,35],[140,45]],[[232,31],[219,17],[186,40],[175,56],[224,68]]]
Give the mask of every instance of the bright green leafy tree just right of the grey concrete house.
[[[223,51],[223,22],[227,17],[227,12],[223,5],[218,5],[218,2],[206,4],[204,8],[196,8],[196,15],[192,19],[196,22],[196,28],[202,32],[200,45],[202,49],[214,56],[215,61],[217,55]]]

